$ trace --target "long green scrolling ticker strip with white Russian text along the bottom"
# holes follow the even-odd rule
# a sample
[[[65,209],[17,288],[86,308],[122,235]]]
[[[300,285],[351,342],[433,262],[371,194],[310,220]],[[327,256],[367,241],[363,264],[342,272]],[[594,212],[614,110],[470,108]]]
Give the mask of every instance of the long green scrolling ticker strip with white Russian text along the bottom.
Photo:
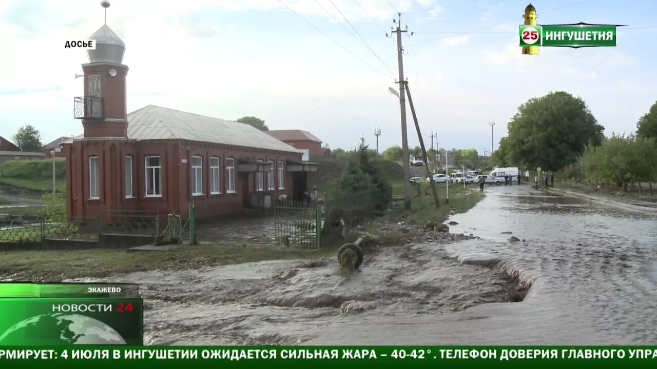
[[[0,347],[0,366],[32,368],[655,368],[657,346]]]

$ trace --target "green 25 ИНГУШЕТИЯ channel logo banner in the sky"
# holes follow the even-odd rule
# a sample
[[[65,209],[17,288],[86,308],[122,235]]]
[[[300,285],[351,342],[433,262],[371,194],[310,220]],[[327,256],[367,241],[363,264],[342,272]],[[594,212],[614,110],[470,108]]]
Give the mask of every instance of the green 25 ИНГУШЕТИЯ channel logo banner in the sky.
[[[522,47],[614,47],[616,24],[545,24],[521,25]]]

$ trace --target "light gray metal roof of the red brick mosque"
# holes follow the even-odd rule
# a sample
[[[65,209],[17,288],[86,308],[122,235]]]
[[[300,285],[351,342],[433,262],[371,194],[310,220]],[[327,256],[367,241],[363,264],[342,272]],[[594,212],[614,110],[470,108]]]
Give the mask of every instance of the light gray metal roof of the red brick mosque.
[[[127,137],[137,141],[186,140],[301,153],[245,123],[148,105],[127,115]]]

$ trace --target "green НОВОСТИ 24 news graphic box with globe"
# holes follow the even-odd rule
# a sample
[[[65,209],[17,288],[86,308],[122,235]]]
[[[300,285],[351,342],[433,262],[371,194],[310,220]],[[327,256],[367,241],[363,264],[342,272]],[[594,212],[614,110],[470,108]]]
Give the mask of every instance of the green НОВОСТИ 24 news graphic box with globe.
[[[134,284],[0,283],[0,346],[143,345]]]

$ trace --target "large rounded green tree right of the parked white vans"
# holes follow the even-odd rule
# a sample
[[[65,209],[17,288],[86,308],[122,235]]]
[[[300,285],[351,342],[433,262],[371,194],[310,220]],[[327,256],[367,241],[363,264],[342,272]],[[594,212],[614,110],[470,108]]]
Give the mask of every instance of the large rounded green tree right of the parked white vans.
[[[508,129],[498,149],[506,155],[496,160],[552,171],[576,162],[587,144],[599,145],[604,127],[581,98],[558,91],[520,105]]]

